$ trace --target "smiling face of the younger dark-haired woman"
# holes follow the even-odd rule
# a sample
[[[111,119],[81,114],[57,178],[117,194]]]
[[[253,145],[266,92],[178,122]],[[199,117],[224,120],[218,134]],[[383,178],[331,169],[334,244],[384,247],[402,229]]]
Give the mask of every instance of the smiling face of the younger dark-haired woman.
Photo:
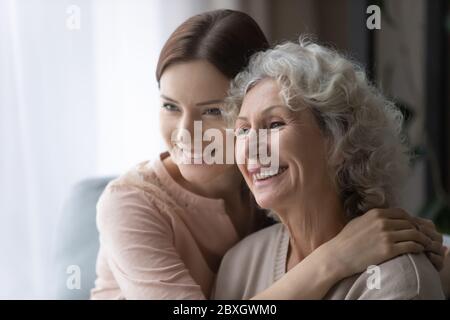
[[[209,182],[234,167],[225,164],[223,107],[229,85],[230,79],[206,60],[173,64],[160,79],[161,134],[172,160],[187,181]],[[205,151],[211,150],[207,146],[214,141],[214,138],[211,141],[204,139],[208,129],[216,129],[216,133],[220,131],[223,137],[223,143],[214,144],[222,149],[223,159],[219,164],[205,161]],[[216,156],[216,152],[220,152],[219,148],[210,153]]]

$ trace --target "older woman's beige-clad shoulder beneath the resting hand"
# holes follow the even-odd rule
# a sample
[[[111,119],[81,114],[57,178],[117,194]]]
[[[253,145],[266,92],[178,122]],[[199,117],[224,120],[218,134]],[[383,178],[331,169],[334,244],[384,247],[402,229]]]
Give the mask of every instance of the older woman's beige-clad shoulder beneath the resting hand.
[[[377,285],[377,279],[379,279]],[[357,277],[349,299],[444,299],[439,274],[424,254],[405,254]]]

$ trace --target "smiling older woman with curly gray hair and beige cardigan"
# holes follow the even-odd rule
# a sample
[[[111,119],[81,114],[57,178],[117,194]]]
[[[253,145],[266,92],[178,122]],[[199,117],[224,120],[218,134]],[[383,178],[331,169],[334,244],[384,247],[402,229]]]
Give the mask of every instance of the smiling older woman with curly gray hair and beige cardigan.
[[[408,167],[400,135],[402,116],[369,84],[361,68],[309,41],[256,54],[236,77],[231,102],[241,107],[235,124],[239,169],[258,204],[271,209],[281,223],[228,251],[214,297],[264,298],[266,288],[355,217],[396,204]],[[277,139],[258,145],[260,153],[265,150],[261,147],[279,150],[277,170],[266,170],[258,153],[249,152],[249,133],[259,129],[277,134]],[[397,227],[403,229],[402,222]],[[401,242],[411,232],[397,233],[394,241]],[[367,243],[367,250],[372,245]],[[444,295],[438,272],[420,253],[400,255],[348,277],[325,298]]]

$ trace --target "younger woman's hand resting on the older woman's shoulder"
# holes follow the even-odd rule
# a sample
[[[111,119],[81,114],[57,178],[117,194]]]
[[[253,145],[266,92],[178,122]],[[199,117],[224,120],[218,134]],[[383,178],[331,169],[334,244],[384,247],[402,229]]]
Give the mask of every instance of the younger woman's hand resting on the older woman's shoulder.
[[[369,210],[351,220],[320,250],[332,256],[334,272],[340,278],[406,253],[424,252],[440,270],[445,254],[442,235],[434,224],[399,208]]]

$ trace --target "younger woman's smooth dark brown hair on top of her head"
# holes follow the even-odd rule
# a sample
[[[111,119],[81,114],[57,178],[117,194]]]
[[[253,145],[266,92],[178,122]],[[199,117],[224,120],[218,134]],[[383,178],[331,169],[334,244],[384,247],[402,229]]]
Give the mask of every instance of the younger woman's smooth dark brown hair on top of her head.
[[[214,10],[183,22],[161,50],[156,80],[177,62],[205,59],[232,79],[248,63],[250,56],[267,49],[269,43],[255,20],[233,10]]]

